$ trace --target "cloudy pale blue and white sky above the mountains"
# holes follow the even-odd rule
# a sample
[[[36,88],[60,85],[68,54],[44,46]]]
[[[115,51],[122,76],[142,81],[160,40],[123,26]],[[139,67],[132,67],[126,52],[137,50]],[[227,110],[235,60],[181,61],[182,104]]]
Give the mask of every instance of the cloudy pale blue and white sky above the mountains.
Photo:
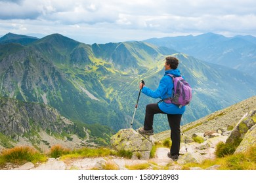
[[[0,0],[0,37],[60,33],[88,44],[151,37],[256,36],[255,0]]]

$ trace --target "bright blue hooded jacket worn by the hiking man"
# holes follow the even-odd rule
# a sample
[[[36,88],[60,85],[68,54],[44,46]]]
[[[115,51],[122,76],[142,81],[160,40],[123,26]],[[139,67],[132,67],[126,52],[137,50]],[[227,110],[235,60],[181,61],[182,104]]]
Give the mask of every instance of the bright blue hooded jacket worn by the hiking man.
[[[181,72],[179,69],[170,69],[165,71],[164,76],[160,80],[160,84],[156,90],[151,90],[150,88],[147,88],[144,86],[141,90],[142,93],[147,95],[148,97],[152,97],[154,99],[161,98],[166,99],[168,97],[172,96],[172,90],[173,90],[173,80],[171,76],[167,76],[167,74],[180,76]],[[185,112],[186,107],[183,106],[179,108],[175,104],[167,104],[165,102],[158,103],[158,107],[161,109],[161,111],[167,113],[167,114],[183,114]]]

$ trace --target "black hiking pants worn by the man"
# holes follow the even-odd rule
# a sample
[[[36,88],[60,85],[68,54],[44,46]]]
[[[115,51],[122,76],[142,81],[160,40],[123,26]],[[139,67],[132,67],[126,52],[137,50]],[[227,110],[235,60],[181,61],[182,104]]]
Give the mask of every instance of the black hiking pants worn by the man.
[[[157,103],[151,103],[146,106],[146,115],[144,120],[144,129],[153,129],[154,114],[166,114],[161,111]],[[182,114],[167,114],[169,126],[171,128],[171,155],[178,155],[181,144],[181,117]]]

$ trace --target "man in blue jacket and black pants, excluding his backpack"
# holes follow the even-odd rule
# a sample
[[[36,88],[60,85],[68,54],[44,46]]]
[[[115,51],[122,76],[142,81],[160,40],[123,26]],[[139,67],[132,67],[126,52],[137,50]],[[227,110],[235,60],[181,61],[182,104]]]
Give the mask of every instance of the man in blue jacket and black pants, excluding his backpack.
[[[185,106],[179,107],[173,103],[165,103],[163,100],[172,96],[173,90],[173,80],[171,76],[167,74],[171,74],[174,76],[181,76],[179,69],[177,69],[179,65],[179,60],[174,57],[165,58],[165,74],[163,78],[160,80],[160,84],[156,90],[151,90],[147,88],[144,84],[140,83],[139,88],[141,92],[152,98],[161,98],[161,101],[158,103],[151,103],[146,106],[146,114],[144,119],[144,127],[140,128],[138,132],[142,135],[153,135],[153,120],[154,114],[167,114],[169,126],[171,128],[171,150],[168,152],[167,156],[173,161],[177,161],[179,159],[179,150],[181,143],[181,117],[185,111]]]

